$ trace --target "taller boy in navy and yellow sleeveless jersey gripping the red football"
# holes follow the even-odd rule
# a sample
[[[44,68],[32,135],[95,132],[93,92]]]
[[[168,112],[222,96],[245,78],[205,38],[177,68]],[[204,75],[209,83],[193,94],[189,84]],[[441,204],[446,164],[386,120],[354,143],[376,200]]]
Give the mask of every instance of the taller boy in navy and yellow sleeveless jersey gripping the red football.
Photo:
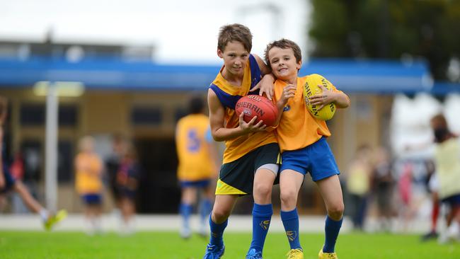
[[[222,236],[239,196],[253,193],[254,197],[253,241],[247,259],[262,258],[273,214],[272,185],[280,152],[275,134],[267,132],[262,121],[254,123],[255,117],[246,123],[243,114],[235,113],[238,99],[258,88],[261,74],[270,72],[262,59],[250,54],[251,47],[252,35],[246,26],[232,24],[220,29],[217,55],[224,59],[224,66],[209,86],[207,101],[212,137],[225,141],[226,149],[209,217],[211,235],[205,259],[218,259],[224,254]],[[269,87],[264,92],[270,97],[273,78],[268,79]]]

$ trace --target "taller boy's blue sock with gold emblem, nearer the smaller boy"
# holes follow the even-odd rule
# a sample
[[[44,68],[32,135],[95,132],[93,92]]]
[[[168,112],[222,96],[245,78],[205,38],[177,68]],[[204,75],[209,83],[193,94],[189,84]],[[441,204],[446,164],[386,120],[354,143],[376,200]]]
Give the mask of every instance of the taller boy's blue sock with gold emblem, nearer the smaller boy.
[[[263,251],[265,237],[267,237],[268,228],[270,227],[270,219],[272,219],[273,208],[271,204],[258,205],[254,203],[253,207],[253,241],[251,248],[256,251]]]

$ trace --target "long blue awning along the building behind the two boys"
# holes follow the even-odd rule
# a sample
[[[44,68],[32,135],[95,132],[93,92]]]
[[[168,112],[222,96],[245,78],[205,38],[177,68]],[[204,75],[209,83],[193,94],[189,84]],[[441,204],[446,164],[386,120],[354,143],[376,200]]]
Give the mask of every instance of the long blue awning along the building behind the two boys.
[[[80,81],[87,89],[149,91],[205,90],[219,65],[155,64],[93,58],[71,63],[31,57],[0,59],[0,88],[30,87],[37,81]],[[422,61],[311,59],[300,76],[321,74],[347,93],[415,93],[430,91],[432,80]]]

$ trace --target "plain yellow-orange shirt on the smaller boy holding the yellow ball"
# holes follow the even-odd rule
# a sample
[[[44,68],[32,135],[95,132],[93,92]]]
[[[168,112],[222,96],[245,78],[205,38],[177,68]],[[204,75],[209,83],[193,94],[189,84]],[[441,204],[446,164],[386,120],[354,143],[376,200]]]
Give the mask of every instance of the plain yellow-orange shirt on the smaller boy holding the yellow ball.
[[[289,98],[282,112],[280,123],[276,127],[278,144],[281,152],[286,150],[302,149],[317,142],[321,137],[329,137],[328,125],[324,120],[319,120],[306,109],[303,98],[303,86],[306,77],[297,78],[297,90],[293,98]],[[280,100],[282,91],[287,83],[275,81],[274,100]],[[338,91],[332,86],[333,91]],[[340,92],[340,91],[338,91]]]

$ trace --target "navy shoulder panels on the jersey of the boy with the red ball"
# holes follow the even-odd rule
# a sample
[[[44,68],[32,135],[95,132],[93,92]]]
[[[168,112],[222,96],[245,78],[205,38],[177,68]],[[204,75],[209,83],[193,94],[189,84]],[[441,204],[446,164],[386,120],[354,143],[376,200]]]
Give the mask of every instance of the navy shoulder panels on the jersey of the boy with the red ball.
[[[249,54],[249,67],[251,69],[251,88],[252,89],[258,82],[260,82],[262,71],[260,71],[260,67],[255,60],[253,54]],[[215,84],[211,84],[209,88],[216,93],[217,98],[219,98],[224,108],[230,108],[231,110],[235,110],[235,105],[238,103],[238,100],[243,96],[232,96],[229,93],[223,91],[219,86]],[[251,92],[251,94],[259,94],[259,91]]]

